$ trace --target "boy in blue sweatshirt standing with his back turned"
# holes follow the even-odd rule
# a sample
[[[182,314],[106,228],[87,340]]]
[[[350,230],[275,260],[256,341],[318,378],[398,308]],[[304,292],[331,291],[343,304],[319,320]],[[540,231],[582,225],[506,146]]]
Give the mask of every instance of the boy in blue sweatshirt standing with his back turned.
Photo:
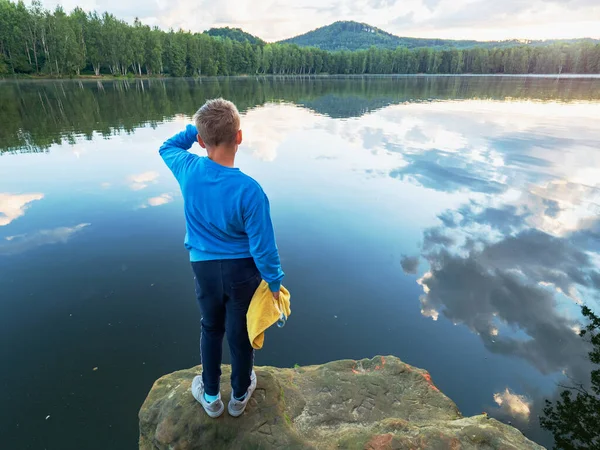
[[[194,115],[194,123],[159,151],[183,194],[185,247],[202,312],[202,376],[194,378],[192,394],[210,417],[223,414],[220,377],[227,333],[232,366],[227,409],[239,417],[256,388],[246,325],[250,300],[261,278],[278,298],[284,274],[269,201],[256,181],[234,168],[242,143],[237,108],[221,98],[209,100]],[[208,157],[187,151],[196,141]]]

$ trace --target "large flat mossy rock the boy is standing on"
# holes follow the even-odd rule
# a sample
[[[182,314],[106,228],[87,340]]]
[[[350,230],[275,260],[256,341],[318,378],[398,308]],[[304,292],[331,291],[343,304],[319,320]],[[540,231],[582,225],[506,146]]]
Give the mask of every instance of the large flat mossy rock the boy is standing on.
[[[485,415],[463,418],[427,372],[396,357],[257,367],[238,419],[210,419],[190,385],[201,367],[160,378],[140,413],[140,450],[542,449]],[[223,366],[223,401],[231,395]]]

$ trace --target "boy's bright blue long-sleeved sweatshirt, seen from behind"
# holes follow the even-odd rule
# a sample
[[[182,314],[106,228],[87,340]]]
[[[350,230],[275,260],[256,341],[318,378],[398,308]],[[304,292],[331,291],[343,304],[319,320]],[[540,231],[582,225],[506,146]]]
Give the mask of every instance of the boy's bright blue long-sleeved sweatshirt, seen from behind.
[[[284,274],[267,196],[239,169],[189,153],[197,135],[188,125],[159,150],[183,194],[190,260],[252,257],[271,291],[279,291]]]

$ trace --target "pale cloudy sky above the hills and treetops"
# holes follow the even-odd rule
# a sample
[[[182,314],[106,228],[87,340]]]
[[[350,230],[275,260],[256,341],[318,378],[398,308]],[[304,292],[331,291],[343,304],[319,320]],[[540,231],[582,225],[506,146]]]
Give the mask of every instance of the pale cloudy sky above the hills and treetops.
[[[108,11],[163,29],[238,27],[277,41],[337,20],[398,36],[446,39],[600,38],[598,0],[42,0],[46,8]]]

